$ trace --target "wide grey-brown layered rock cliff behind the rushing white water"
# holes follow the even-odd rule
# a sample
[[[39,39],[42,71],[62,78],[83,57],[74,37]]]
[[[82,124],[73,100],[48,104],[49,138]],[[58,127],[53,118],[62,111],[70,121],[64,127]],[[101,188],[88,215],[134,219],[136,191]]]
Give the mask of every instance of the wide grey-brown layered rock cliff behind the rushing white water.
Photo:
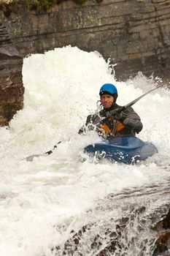
[[[170,0],[61,1],[47,11],[18,1],[0,17],[24,56],[76,45],[110,58],[117,78],[169,78]]]

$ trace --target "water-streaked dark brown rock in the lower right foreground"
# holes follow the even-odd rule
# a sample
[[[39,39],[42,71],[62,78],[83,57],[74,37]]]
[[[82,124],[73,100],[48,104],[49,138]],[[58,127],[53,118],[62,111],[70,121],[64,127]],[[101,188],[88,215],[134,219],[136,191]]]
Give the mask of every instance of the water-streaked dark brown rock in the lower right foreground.
[[[53,248],[53,255],[169,256],[169,203],[160,205],[150,212],[147,206],[156,201],[157,195],[153,200],[155,188],[148,190],[148,197],[147,194],[143,195],[145,201],[139,200],[142,196],[139,194],[134,200],[132,194],[134,192],[117,195],[119,200],[109,195],[108,201],[105,200],[104,203],[96,206],[96,214],[102,216],[103,213],[105,218],[99,217],[98,222],[90,222],[78,232],[72,230],[70,238],[63,244],[63,247]],[[149,197],[151,200],[148,199]],[[122,198],[124,200],[121,205]],[[113,214],[112,212],[117,207],[121,207],[124,217],[107,218],[107,214],[109,216]]]

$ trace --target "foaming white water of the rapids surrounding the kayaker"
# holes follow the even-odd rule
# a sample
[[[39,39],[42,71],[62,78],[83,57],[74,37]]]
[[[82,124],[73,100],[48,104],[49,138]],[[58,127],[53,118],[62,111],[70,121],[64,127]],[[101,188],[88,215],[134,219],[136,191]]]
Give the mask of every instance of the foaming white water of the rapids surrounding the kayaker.
[[[52,248],[62,248],[72,237],[72,230],[101,219],[104,222],[111,212],[115,219],[125,214],[120,207],[125,203],[123,198],[115,202],[114,211],[108,213],[106,209],[101,214],[94,210],[107,203],[109,195],[169,186],[168,89],[155,90],[133,106],[144,125],[137,136],[158,148],[158,154],[138,165],[98,162],[85,156],[83,148],[100,138],[93,131],[77,134],[86,116],[98,110],[102,84],[114,83],[117,104],[126,105],[154,89],[158,81],[141,73],[125,82],[117,81],[109,60],[98,52],[72,46],[24,59],[24,108],[15,114],[9,127],[0,128],[1,256],[53,255]],[[29,155],[44,154],[55,145],[53,154],[26,161]],[[159,197],[152,207],[166,201],[166,195]],[[133,250],[129,249],[127,255],[137,255]],[[82,255],[97,252],[84,244]]]

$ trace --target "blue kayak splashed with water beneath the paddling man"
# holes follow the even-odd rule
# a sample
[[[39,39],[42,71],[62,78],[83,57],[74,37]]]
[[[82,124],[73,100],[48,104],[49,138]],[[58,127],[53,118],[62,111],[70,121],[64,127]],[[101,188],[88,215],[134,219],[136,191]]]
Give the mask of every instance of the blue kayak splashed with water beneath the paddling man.
[[[84,151],[98,159],[107,158],[128,165],[145,160],[158,152],[152,143],[144,142],[135,136],[116,137],[90,144]]]

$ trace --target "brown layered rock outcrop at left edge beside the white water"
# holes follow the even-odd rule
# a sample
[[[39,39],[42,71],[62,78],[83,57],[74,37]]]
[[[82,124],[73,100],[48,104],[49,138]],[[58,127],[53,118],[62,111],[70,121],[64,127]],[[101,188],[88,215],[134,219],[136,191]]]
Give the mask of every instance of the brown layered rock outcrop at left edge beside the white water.
[[[23,58],[0,23],[0,126],[23,108]]]

